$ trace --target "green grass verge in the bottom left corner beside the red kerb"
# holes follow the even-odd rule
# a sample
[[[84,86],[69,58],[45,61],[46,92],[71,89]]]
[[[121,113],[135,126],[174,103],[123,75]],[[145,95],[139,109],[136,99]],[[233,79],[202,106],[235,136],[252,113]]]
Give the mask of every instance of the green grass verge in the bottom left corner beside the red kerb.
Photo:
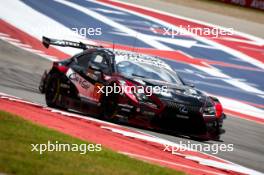
[[[90,132],[90,131],[87,131]],[[85,141],[30,123],[0,111],[0,173],[6,174],[183,174],[118,154],[107,148],[100,152],[32,152],[31,144],[88,144]]]

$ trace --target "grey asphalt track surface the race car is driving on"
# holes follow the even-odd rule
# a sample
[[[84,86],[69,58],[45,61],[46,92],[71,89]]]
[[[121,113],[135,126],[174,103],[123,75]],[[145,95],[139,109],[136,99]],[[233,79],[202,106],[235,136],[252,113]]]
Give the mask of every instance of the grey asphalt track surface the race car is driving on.
[[[38,84],[51,62],[23,51],[0,40],[0,90],[26,100],[45,105],[44,96],[38,92]],[[216,156],[264,172],[264,127],[255,122],[227,116],[224,123],[226,133],[222,142],[234,144],[233,152],[219,152]],[[172,136],[137,129],[176,143],[201,143],[181,136]]]

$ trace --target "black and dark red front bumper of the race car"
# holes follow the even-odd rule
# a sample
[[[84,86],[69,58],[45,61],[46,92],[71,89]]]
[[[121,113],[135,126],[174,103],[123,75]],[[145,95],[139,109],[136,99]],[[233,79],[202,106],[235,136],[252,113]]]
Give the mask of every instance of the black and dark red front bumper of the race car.
[[[162,110],[151,108],[146,104],[131,104],[128,101],[119,102],[117,116],[121,121],[140,127],[155,128],[169,132],[180,132],[190,135],[223,134],[225,115],[220,118],[203,117],[200,107],[187,106],[188,114],[179,111],[181,104],[166,103]]]

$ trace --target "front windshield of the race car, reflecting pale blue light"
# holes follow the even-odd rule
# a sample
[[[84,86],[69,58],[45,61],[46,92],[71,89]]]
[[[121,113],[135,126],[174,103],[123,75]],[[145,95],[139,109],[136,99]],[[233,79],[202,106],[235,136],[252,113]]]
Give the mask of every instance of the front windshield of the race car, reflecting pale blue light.
[[[182,85],[181,80],[173,70],[149,63],[123,60],[117,63],[117,71],[124,76],[136,76],[153,81]]]

